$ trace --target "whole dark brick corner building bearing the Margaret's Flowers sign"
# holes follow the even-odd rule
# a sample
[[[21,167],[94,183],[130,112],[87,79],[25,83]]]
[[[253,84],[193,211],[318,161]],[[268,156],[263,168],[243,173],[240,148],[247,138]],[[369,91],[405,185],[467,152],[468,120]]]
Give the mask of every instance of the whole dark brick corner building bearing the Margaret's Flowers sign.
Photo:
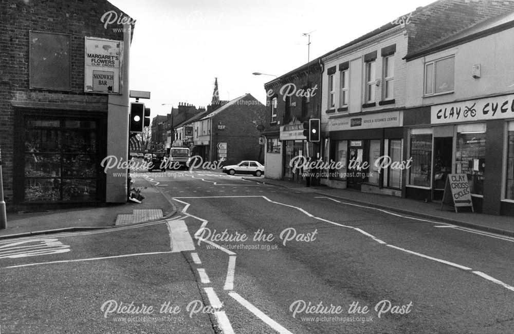
[[[6,0],[0,17],[8,210],[126,201],[126,177],[100,164],[127,159],[135,20],[105,0]]]

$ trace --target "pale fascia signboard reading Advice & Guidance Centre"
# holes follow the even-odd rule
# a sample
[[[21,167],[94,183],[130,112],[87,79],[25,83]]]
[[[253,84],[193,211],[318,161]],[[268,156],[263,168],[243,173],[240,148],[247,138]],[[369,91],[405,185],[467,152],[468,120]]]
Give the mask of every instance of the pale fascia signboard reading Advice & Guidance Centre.
[[[385,113],[346,115],[345,117],[328,120],[330,131],[395,128],[403,125],[403,114],[400,111]]]

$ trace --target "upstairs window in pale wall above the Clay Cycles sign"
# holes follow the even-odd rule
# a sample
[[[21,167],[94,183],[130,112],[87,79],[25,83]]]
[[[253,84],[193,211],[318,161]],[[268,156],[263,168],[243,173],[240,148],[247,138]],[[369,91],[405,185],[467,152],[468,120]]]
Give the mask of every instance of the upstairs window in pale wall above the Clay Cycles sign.
[[[453,92],[455,57],[425,63],[425,95]]]

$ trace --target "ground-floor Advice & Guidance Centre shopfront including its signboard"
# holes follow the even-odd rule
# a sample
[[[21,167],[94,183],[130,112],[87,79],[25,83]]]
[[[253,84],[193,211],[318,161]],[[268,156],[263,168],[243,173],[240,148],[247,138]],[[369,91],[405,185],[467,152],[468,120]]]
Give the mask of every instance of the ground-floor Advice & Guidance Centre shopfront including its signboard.
[[[401,111],[333,117],[328,127],[329,135],[323,145],[324,161],[339,162],[341,168],[326,170],[322,183],[401,196],[402,170],[392,168],[392,164],[380,168],[384,159],[401,162]]]

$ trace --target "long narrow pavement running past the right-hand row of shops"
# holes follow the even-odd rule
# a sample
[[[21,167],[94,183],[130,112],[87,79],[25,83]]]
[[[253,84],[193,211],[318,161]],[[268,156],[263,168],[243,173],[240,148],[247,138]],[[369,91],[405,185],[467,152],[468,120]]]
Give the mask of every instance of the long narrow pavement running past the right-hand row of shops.
[[[314,192],[319,196],[327,196],[348,203],[514,237],[514,217],[511,216],[472,213],[469,208],[459,208],[459,212],[455,213],[453,206],[450,205],[445,204],[443,209],[441,209],[441,202],[438,201],[424,202],[397,196],[369,194],[353,189],[336,189],[327,186],[306,187],[296,182],[264,177],[245,177],[244,179],[286,187],[296,191]]]

